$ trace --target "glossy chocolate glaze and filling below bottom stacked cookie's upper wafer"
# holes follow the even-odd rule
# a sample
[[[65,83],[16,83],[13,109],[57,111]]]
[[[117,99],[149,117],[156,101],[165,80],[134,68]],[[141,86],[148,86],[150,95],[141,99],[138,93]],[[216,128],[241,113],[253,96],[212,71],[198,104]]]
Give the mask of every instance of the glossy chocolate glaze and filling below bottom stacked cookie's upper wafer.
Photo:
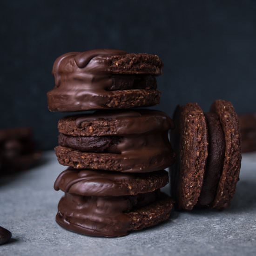
[[[132,229],[126,214],[155,202],[159,190],[147,194],[96,197],[65,194],[58,205],[56,222],[63,228],[88,236],[124,236]]]

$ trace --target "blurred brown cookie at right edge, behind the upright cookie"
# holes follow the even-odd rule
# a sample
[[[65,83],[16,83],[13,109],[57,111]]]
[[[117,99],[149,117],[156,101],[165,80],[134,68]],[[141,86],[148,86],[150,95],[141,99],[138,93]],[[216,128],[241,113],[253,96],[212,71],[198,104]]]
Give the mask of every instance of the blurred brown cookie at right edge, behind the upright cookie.
[[[242,152],[256,151],[256,113],[240,115],[239,120],[242,135]]]

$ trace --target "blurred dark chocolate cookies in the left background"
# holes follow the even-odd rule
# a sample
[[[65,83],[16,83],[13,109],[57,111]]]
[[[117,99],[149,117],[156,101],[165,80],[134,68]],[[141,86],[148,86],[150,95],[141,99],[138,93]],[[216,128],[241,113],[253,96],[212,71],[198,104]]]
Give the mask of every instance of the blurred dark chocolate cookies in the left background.
[[[40,157],[30,128],[0,130],[0,175],[31,168]]]

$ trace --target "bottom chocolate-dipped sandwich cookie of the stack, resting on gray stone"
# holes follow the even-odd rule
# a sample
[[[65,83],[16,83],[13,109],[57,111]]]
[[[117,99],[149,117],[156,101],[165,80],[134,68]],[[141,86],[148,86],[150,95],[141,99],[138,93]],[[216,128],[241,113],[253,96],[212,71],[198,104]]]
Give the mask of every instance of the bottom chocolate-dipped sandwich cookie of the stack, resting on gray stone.
[[[77,233],[108,237],[156,225],[173,207],[159,190],[167,183],[164,170],[135,175],[69,168],[54,184],[65,192],[56,222]]]

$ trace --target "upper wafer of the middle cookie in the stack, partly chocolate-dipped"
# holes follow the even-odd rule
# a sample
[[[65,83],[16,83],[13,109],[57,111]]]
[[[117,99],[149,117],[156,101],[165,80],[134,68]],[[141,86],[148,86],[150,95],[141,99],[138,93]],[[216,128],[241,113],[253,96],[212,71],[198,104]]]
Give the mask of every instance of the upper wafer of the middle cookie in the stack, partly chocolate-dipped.
[[[132,135],[171,128],[173,121],[168,115],[148,109],[95,111],[64,117],[58,122],[59,132],[71,136]]]

